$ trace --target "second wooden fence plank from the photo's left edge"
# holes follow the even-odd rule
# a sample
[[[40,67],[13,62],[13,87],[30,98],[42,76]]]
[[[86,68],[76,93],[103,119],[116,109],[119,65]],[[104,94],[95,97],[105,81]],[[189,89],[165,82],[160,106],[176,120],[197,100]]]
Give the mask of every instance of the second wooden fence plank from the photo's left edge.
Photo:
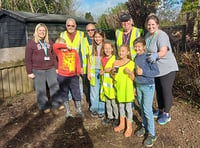
[[[8,69],[8,76],[9,76],[9,85],[10,85],[10,95],[11,97],[13,97],[17,94],[14,68]]]

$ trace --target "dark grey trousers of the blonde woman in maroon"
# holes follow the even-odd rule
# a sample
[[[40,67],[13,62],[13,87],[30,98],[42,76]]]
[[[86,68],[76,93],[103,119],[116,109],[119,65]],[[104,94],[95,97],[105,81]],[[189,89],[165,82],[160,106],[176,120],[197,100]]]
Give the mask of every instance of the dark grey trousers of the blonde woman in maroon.
[[[47,70],[33,69],[33,73],[35,75],[33,81],[39,109],[44,111],[45,109],[51,107],[47,97],[46,82],[49,87],[52,106],[57,108],[62,103],[62,100],[59,96],[59,85],[57,82],[57,73],[55,68]]]

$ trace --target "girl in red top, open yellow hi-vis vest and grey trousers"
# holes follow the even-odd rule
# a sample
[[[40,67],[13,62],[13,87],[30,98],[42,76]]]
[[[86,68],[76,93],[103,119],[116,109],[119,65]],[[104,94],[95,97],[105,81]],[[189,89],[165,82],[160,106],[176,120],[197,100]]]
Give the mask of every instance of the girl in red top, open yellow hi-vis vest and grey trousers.
[[[111,77],[112,67],[115,62],[115,48],[110,41],[105,41],[102,48],[102,75],[101,85],[101,100],[105,101],[107,118],[102,122],[103,125],[108,125],[113,122],[113,127],[119,124],[118,104],[116,101],[116,91]]]

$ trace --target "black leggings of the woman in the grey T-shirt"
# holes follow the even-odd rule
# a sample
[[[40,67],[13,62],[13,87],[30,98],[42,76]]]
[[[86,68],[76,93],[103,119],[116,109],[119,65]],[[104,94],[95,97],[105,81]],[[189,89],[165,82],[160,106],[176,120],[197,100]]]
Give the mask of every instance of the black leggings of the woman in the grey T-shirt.
[[[166,113],[169,113],[172,106],[172,88],[175,76],[176,72],[173,71],[164,76],[155,78],[158,108],[164,109]]]

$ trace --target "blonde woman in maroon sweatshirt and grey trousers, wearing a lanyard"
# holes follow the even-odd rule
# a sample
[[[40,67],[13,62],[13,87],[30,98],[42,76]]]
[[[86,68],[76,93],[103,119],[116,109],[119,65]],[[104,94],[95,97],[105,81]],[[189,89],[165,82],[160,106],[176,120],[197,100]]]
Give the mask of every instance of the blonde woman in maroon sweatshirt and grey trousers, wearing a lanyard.
[[[35,27],[34,38],[26,45],[25,62],[28,77],[34,81],[39,109],[44,113],[50,112],[46,82],[50,89],[52,107],[58,108],[62,101],[58,100],[57,60],[45,24],[39,23]]]

